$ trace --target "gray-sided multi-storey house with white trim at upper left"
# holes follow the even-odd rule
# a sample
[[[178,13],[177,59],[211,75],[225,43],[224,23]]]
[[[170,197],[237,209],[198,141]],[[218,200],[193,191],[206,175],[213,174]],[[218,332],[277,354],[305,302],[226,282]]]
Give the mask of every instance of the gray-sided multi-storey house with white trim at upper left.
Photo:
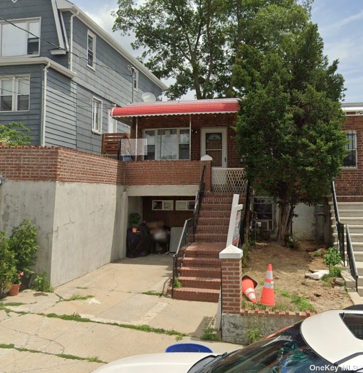
[[[0,19],[0,123],[25,124],[32,145],[100,153],[102,133],[130,131],[112,121],[112,107],[167,88],[67,0],[0,0],[0,9],[12,23]],[[39,27],[40,39],[13,24],[32,33]],[[137,72],[135,88],[128,66]]]

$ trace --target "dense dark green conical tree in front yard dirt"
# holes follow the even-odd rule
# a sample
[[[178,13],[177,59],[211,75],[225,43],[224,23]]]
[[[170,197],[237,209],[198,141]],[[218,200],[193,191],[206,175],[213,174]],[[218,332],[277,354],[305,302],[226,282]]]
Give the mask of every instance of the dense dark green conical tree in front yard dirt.
[[[275,50],[240,48],[237,144],[254,188],[280,205],[279,240],[299,202],[314,205],[328,194],[346,154],[337,68],[323,55],[315,24],[285,35]]]

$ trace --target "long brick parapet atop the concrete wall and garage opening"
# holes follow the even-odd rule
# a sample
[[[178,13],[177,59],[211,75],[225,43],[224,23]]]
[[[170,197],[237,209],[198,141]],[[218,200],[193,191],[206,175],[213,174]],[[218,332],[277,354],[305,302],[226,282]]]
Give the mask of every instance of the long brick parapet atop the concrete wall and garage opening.
[[[117,185],[199,185],[203,165],[210,190],[210,162],[119,162],[57,147],[0,147],[0,175],[10,180]]]

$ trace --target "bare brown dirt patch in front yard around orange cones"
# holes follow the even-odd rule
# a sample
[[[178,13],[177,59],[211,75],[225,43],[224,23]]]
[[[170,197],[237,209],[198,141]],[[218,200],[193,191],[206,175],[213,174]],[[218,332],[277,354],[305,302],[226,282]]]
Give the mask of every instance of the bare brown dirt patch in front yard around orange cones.
[[[313,269],[327,269],[322,255],[316,256],[317,250],[325,253],[325,247],[314,241],[301,242],[295,250],[276,242],[256,243],[249,250],[250,260],[244,268],[244,274],[258,282],[255,289],[257,301],[261,298],[267,264],[271,263],[275,281],[275,301],[282,311],[298,311],[299,297],[306,297],[317,312],[350,306],[352,301],[344,287],[332,287],[330,283],[305,278],[305,273]],[[250,302],[247,304],[252,306]]]

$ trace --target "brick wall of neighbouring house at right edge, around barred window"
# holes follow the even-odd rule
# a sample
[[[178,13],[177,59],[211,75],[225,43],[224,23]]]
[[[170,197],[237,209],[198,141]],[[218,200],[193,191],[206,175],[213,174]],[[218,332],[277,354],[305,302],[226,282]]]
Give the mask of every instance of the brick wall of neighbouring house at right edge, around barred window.
[[[337,196],[363,195],[363,115],[347,116],[344,130],[357,133],[357,167],[343,167],[341,176],[335,180]]]

